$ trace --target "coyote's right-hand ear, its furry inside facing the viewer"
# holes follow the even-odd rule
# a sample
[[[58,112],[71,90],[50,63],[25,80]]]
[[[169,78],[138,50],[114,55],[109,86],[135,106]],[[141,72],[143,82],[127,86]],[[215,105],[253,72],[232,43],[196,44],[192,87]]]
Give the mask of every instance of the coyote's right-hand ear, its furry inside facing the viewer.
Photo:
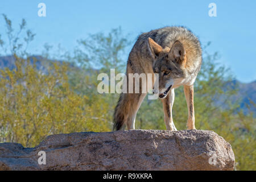
[[[172,45],[171,51],[168,56],[173,57],[177,63],[181,63],[185,59],[186,51],[181,42],[176,40]]]

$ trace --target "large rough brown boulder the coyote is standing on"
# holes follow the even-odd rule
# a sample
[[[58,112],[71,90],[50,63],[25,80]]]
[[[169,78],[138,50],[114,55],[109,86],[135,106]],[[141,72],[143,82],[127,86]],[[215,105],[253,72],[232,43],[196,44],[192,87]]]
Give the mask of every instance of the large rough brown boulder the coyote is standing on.
[[[39,165],[39,151],[46,152],[46,164]],[[205,130],[57,134],[35,148],[0,143],[0,170],[233,169],[230,144]]]

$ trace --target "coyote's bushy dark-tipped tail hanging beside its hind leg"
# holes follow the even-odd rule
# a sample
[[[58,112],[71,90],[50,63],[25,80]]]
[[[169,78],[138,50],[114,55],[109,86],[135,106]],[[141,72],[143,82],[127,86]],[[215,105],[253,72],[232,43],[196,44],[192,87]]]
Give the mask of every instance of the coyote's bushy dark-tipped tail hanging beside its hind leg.
[[[124,94],[121,93],[117,106],[115,106],[113,130],[122,129],[123,125],[126,123],[127,115],[125,107],[125,97]]]

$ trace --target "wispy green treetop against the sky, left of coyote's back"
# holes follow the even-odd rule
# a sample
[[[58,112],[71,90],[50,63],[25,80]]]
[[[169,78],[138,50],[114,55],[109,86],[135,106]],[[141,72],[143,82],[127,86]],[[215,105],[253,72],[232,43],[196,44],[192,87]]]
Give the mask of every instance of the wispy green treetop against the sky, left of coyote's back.
[[[124,71],[126,62],[123,61],[123,57],[127,57],[124,53],[131,42],[127,36],[122,35],[121,27],[113,29],[108,35],[101,32],[92,34],[78,43],[74,59],[85,69],[109,72],[115,68],[119,72]]]

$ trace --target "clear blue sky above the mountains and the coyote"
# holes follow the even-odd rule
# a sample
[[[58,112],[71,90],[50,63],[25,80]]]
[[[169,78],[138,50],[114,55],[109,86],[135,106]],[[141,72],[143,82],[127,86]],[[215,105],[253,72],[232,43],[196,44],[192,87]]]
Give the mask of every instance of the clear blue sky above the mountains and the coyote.
[[[38,4],[46,4],[46,17],[38,16]],[[216,3],[217,17],[208,15]],[[42,52],[44,43],[72,50],[76,40],[88,34],[122,27],[130,39],[163,26],[182,25],[199,36],[208,52],[218,51],[220,62],[242,82],[256,80],[256,1],[1,1],[0,14],[18,25],[22,18],[36,33],[31,53]],[[0,18],[0,34],[5,31]],[[127,56],[128,56],[127,52]]]

